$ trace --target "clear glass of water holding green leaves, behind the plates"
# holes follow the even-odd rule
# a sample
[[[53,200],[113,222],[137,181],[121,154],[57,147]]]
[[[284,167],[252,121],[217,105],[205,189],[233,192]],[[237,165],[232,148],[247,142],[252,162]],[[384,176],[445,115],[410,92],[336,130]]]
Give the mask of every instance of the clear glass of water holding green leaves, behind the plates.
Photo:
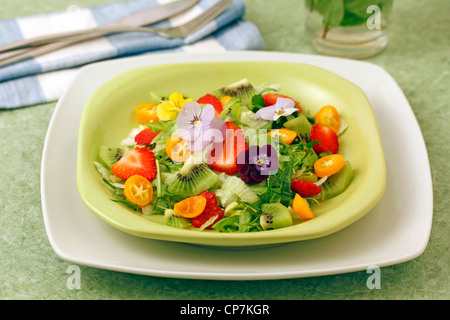
[[[365,58],[388,44],[393,0],[305,0],[306,37],[327,55]]]

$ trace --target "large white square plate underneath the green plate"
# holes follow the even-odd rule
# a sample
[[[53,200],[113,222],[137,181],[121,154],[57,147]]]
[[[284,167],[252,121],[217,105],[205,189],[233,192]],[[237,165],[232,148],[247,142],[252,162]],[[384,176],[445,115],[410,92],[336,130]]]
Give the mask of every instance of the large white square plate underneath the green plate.
[[[283,245],[217,248],[132,236],[101,221],[76,185],[78,125],[89,96],[112,77],[157,64],[284,61],[315,65],[355,83],[375,113],[386,157],[387,185],[366,216],[332,235]],[[382,68],[362,61],[279,52],[152,55],[81,69],[59,100],[43,150],[41,195],[51,246],[66,261],[151,276],[260,280],[366,270],[405,262],[425,250],[433,194],[422,133],[402,90]]]

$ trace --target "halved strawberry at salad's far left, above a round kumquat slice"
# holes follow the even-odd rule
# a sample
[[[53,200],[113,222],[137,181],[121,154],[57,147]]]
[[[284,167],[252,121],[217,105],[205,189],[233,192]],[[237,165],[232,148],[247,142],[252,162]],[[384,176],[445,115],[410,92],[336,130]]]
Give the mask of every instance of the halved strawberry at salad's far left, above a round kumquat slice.
[[[111,167],[111,172],[123,180],[140,175],[152,181],[156,178],[155,155],[146,148],[134,147]]]

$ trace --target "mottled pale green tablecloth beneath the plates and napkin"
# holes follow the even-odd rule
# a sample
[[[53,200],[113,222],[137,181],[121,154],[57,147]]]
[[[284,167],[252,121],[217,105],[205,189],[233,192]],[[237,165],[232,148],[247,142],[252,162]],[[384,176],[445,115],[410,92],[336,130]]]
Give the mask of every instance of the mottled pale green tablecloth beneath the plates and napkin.
[[[112,2],[2,0],[0,19]],[[315,53],[304,37],[303,2],[245,0],[246,18],[268,51]],[[269,281],[211,281],[126,274],[80,266],[83,287],[69,290],[66,270],[45,233],[40,164],[56,103],[0,111],[0,299],[449,299],[450,148],[448,0],[397,0],[389,47],[367,59],[399,83],[422,129],[434,191],[433,228],[418,258],[381,269],[381,289],[364,271]],[[408,159],[405,159],[408,161]]]

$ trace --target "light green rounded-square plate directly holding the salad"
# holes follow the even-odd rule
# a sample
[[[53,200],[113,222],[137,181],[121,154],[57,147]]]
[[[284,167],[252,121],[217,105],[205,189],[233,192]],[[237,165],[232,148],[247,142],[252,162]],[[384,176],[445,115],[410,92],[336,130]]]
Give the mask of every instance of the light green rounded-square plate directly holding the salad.
[[[316,218],[295,220],[283,229],[252,233],[218,233],[177,229],[161,216],[139,215],[109,199],[93,166],[101,145],[119,145],[138,126],[134,108],[149,100],[150,91],[199,97],[242,78],[254,85],[280,84],[284,94],[314,114],[334,105],[348,123],[340,137],[340,153],[355,171],[341,195],[314,207]],[[210,246],[255,246],[319,238],[339,231],[368,213],[382,197],[386,165],[373,110],[353,83],[316,66],[270,61],[223,61],[161,64],[122,73],[100,86],[86,103],[78,139],[77,185],[84,204],[98,217],[135,236]]]

